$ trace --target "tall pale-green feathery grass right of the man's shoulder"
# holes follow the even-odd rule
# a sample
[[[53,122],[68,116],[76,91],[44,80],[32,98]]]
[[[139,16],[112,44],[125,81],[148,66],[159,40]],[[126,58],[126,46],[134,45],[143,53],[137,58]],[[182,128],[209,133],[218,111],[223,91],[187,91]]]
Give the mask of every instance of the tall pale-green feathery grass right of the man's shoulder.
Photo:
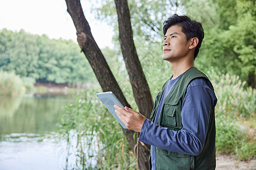
[[[255,116],[256,90],[245,87],[237,75],[216,74],[208,71],[209,77],[214,80],[214,88],[218,97],[216,115],[224,114],[230,117],[250,118]]]

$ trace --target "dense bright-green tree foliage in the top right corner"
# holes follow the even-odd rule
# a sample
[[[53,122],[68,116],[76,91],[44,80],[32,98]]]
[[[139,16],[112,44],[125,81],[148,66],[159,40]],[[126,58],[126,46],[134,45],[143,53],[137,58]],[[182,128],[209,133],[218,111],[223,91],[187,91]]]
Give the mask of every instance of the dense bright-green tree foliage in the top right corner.
[[[204,67],[213,66],[223,74],[240,75],[247,85],[254,87],[256,2],[214,2],[217,2],[219,24],[205,30],[199,62]]]

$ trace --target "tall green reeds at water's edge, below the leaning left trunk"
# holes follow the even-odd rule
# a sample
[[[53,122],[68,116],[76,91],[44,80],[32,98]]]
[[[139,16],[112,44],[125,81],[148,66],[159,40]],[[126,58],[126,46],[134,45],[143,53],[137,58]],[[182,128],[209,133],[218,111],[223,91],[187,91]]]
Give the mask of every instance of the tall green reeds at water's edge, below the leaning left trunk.
[[[65,107],[60,121],[63,133],[68,135],[67,160],[75,155],[79,169],[134,169],[134,156],[121,126],[100,105],[95,95],[98,91],[85,90]]]

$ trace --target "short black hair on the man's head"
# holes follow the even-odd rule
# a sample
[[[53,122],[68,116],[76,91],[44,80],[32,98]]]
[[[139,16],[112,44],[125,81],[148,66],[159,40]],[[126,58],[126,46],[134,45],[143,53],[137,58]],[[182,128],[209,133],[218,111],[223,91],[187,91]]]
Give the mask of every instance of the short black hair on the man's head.
[[[174,25],[181,26],[181,31],[186,35],[187,41],[189,39],[192,39],[193,37],[197,37],[199,39],[199,42],[196,46],[195,53],[194,53],[194,59],[195,59],[197,57],[197,54],[199,53],[200,46],[204,39],[204,29],[202,27],[202,24],[199,22],[196,22],[195,20],[191,20],[187,15],[179,16],[177,14],[174,14],[170,18],[165,20],[163,23],[164,35],[166,35],[167,29]]]

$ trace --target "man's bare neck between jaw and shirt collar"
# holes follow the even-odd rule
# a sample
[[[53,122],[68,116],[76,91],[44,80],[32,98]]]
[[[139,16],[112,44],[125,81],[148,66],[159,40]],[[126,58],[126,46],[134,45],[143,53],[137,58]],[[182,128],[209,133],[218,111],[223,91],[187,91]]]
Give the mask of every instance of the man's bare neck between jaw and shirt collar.
[[[183,74],[185,71],[194,66],[194,62],[192,61],[183,61],[183,62],[171,62],[172,71],[174,72],[174,76],[172,79],[176,79],[179,75]]]

